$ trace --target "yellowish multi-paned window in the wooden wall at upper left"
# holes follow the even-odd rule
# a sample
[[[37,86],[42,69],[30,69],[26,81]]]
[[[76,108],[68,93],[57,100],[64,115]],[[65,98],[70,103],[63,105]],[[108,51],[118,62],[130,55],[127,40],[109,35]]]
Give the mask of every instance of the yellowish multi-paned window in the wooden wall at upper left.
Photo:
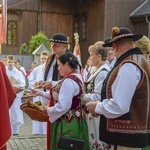
[[[17,21],[8,21],[7,44],[8,45],[17,45]]]

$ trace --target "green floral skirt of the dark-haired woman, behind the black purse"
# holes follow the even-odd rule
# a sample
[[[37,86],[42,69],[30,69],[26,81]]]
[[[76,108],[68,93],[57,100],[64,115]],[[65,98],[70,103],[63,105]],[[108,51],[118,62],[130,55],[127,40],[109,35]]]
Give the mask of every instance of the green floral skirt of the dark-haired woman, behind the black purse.
[[[89,150],[89,138],[86,119],[72,118],[66,121],[65,117],[51,124],[50,127],[50,150],[63,150],[58,147],[61,136],[68,136],[84,140],[84,150]]]

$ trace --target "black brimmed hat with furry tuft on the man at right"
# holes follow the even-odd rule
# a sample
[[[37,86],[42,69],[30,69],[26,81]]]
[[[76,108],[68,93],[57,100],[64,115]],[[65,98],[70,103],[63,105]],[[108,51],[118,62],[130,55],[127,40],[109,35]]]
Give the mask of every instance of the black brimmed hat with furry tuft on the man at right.
[[[143,36],[142,34],[133,34],[128,28],[125,28],[125,27],[122,27],[122,28],[114,27],[112,28],[112,36],[111,36],[110,42],[103,44],[103,46],[112,47],[112,44],[114,42],[123,38],[131,38],[134,41],[137,41],[140,38],[142,38],[142,36]]]

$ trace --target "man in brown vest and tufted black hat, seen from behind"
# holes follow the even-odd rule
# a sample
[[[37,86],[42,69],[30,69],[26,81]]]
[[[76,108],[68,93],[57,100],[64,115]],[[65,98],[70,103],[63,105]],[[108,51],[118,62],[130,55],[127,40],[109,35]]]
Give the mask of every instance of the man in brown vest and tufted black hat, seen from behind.
[[[103,83],[101,102],[87,103],[87,110],[101,115],[100,140],[113,150],[141,149],[150,145],[150,64],[128,28],[112,29],[110,42],[117,62]]]

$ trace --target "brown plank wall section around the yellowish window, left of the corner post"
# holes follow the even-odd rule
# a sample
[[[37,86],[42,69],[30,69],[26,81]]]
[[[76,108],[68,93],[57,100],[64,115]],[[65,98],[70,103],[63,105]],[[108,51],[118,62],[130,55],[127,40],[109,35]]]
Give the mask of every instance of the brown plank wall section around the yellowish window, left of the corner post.
[[[23,18],[23,19],[22,19]],[[20,12],[18,14],[8,15],[8,21],[17,20],[18,32],[17,32],[17,45],[9,46],[2,45],[2,54],[19,54],[20,46],[23,43],[29,44],[29,40],[32,35],[37,33],[37,13],[36,12]]]

